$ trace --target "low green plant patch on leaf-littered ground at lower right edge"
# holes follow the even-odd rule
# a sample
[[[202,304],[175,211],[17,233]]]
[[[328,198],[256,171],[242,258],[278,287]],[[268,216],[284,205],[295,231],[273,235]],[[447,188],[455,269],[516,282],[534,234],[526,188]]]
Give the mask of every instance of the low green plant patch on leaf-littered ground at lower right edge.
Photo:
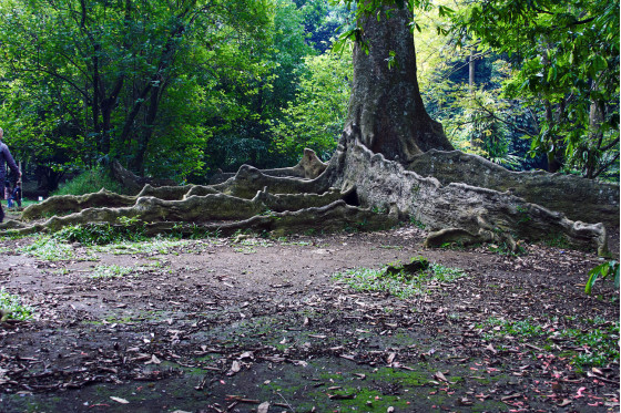
[[[619,321],[595,318],[581,320],[578,327],[551,327],[533,319],[508,321],[490,318],[478,326],[487,341],[515,338],[520,342],[538,343],[542,350],[569,358],[579,370],[619,363]],[[559,350],[559,344],[561,349]]]

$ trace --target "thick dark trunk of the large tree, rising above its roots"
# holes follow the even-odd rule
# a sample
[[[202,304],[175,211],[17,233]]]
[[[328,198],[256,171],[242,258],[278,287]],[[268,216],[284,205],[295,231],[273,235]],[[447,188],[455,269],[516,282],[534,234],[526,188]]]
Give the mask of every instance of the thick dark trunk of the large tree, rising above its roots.
[[[408,10],[391,10],[388,19],[385,11],[381,9],[379,21],[374,14],[359,22],[370,50],[367,54],[359,43],[354,47],[354,84],[345,128],[356,131],[374,153],[405,164],[423,152],[449,151],[452,145],[423,104]]]

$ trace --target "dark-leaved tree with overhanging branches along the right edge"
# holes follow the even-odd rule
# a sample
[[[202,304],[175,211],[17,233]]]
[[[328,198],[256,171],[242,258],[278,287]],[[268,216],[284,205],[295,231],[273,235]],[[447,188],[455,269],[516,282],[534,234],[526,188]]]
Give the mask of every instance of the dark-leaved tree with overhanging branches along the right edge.
[[[489,0],[456,14],[458,30],[510,56],[506,94],[533,114],[532,149],[552,172],[593,178],[618,165],[618,1]]]

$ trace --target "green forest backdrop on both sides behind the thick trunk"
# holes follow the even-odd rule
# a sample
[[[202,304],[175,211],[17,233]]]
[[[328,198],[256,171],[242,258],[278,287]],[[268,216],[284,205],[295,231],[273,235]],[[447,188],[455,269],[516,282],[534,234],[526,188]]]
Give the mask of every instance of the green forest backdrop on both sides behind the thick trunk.
[[[411,8],[420,91],[455,147],[619,180],[619,2],[603,0],[0,0],[7,143],[50,190],[113,159],[179,184],[304,147],[327,161],[355,19],[380,4]]]

